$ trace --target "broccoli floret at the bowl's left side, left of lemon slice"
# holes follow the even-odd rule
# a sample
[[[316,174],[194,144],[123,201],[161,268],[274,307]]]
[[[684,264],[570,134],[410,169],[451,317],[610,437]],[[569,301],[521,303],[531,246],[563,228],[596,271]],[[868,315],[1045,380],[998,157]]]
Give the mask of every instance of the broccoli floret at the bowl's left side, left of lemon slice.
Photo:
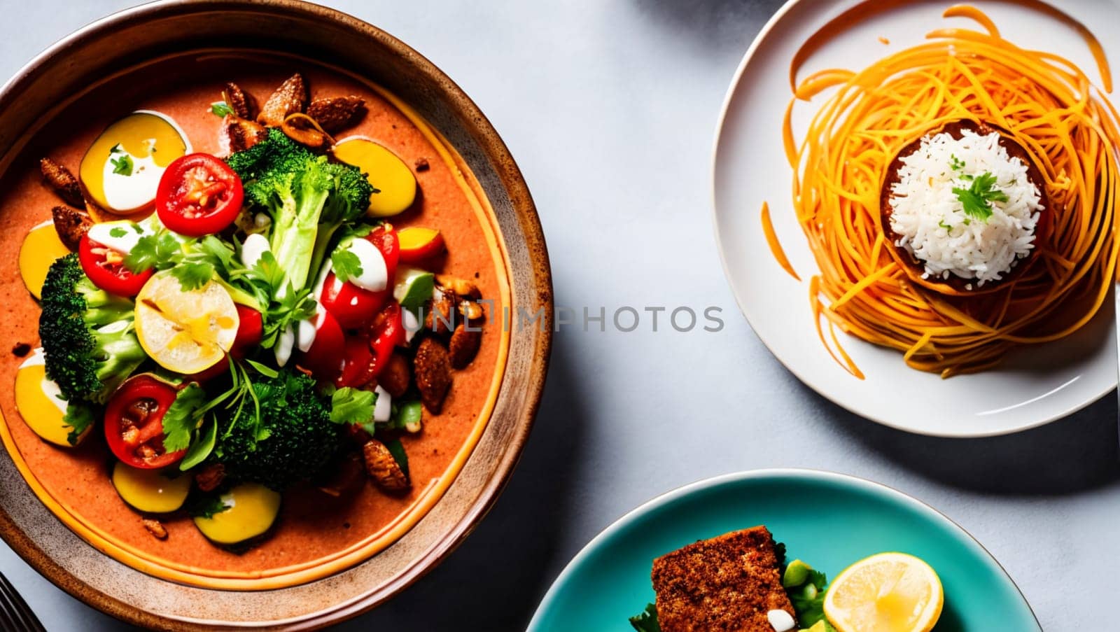
[[[76,254],[55,261],[43,284],[39,338],[47,378],[68,401],[104,403],[147,359],[130,299],[99,289]]]

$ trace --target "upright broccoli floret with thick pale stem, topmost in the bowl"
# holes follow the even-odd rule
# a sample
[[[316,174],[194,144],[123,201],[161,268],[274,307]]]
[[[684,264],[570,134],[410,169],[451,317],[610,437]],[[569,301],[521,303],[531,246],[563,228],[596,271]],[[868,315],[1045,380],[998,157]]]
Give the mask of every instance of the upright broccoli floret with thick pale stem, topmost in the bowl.
[[[335,231],[360,219],[373,194],[356,167],[330,162],[277,128],[226,160],[245,197],[271,216],[270,250],[296,290],[319,269]]]

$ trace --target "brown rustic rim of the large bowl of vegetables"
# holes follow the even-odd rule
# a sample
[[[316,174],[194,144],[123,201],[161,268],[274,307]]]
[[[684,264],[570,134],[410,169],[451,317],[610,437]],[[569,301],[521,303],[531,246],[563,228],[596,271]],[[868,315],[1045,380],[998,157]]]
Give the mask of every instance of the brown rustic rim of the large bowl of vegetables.
[[[367,612],[411,586],[450,555],[474,528],[477,527],[478,522],[497,501],[497,496],[505,487],[510,476],[513,474],[514,467],[521,458],[543,394],[553,333],[551,268],[540,217],[536,214],[536,207],[521,169],[517,167],[505,142],[475,102],[447,74],[416,49],[385,30],[337,9],[300,0],[155,0],[122,9],[71,32],[27,62],[0,86],[0,110],[3,110],[10,100],[18,97],[21,86],[35,81],[36,75],[45,65],[69,54],[73,47],[88,39],[96,38],[105,32],[112,32],[125,26],[157,21],[172,15],[215,10],[249,10],[333,22],[335,26],[376,40],[382,46],[389,48],[392,54],[403,58],[417,73],[437,84],[448,99],[449,109],[460,120],[468,122],[485,156],[493,160],[495,165],[497,179],[505,189],[511,207],[513,208],[513,215],[523,231],[525,245],[529,251],[528,257],[532,267],[531,278],[536,281],[538,286],[538,296],[535,298],[543,308],[543,318],[540,326],[541,335],[536,336],[531,343],[534,346],[533,360],[530,363],[530,371],[525,375],[525,387],[528,389],[522,406],[523,410],[521,411],[524,419],[513,429],[508,447],[502,452],[501,458],[494,466],[493,475],[478,489],[475,502],[466,510],[463,517],[440,537],[436,538],[427,551],[412,560],[394,577],[372,588],[357,600],[328,606],[296,620],[233,624],[243,628],[267,625],[270,629],[283,630],[317,629],[339,623]],[[508,262],[506,264],[508,266]],[[504,382],[505,378],[502,380],[502,383]],[[82,582],[55,561],[35,540],[27,536],[2,506],[0,506],[0,539],[3,539],[17,555],[53,584],[105,614],[146,628],[174,626],[177,630],[214,629],[208,624],[183,621],[177,617],[141,610]],[[223,623],[223,625],[230,624]]]

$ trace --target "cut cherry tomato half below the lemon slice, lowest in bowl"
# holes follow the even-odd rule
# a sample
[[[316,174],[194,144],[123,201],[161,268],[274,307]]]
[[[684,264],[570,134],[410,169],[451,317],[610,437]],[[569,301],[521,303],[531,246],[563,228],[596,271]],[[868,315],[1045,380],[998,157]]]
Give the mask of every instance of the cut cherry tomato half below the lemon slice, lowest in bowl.
[[[116,458],[132,467],[155,470],[178,462],[186,449],[164,449],[164,415],[178,394],[152,375],[129,378],[105,407],[105,440]]]

